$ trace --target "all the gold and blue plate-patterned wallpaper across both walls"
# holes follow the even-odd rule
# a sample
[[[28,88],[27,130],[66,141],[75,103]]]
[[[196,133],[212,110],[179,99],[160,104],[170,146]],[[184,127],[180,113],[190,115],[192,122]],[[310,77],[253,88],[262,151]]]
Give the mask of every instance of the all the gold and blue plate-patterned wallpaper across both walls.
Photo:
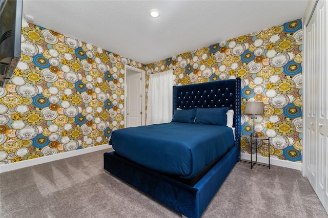
[[[176,85],[240,77],[245,102],[264,102],[255,128],[272,137],[272,158],[301,161],[300,19],[144,64],[27,23],[22,58],[0,88],[0,164],[107,144],[124,127],[124,64],[149,75],[173,69]],[[242,133],[253,126],[242,115]],[[258,152],[268,157],[268,144]],[[254,148],[241,140],[242,152]]]

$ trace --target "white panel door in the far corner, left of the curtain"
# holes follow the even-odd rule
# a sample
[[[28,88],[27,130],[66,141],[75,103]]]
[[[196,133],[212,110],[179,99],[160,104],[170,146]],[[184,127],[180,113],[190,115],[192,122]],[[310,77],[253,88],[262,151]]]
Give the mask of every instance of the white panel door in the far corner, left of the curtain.
[[[127,73],[127,126],[141,125],[141,73]]]

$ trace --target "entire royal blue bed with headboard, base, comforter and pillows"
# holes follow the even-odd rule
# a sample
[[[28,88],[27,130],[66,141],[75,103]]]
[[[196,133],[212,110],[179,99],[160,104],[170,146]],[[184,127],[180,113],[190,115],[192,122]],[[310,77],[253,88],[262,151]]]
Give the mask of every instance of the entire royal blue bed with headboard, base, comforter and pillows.
[[[239,78],[174,86],[173,122],[151,126],[151,134],[148,128],[150,126],[115,130],[110,139],[115,151],[104,154],[105,170],[182,216],[199,217],[235,163],[240,160],[240,101]],[[197,112],[204,110],[233,110],[231,126],[202,123],[203,119],[207,119],[206,116],[197,121],[197,117],[202,116],[197,116]],[[190,122],[179,122],[181,117],[175,116],[181,113],[191,114],[193,111],[195,118],[182,118],[189,119]],[[227,121],[222,122],[225,124]],[[201,134],[193,132],[195,126],[205,131]],[[171,136],[166,129],[179,134]],[[136,132],[139,130],[141,132]],[[225,137],[210,138],[217,135],[211,131],[223,133]],[[140,136],[152,136],[156,141],[148,139],[145,143],[140,141]],[[200,146],[194,145],[195,141]],[[184,146],[187,146],[187,151]],[[184,152],[184,155],[177,155],[179,152]],[[173,156],[169,156],[172,154]]]

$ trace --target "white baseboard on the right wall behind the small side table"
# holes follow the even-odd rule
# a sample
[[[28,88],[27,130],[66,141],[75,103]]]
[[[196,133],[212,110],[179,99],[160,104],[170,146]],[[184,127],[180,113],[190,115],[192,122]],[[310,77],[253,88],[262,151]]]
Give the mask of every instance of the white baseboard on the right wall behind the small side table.
[[[240,156],[241,159],[243,160],[251,160],[251,155],[250,154],[241,154]],[[252,161],[255,160],[255,155],[252,155]],[[260,155],[257,155],[257,162],[259,163],[269,163],[269,159]],[[270,165],[275,165],[275,166],[282,166],[286,168],[291,168],[291,169],[297,169],[297,170],[302,170],[302,163],[301,162],[292,162],[292,161],[284,161],[280,159],[273,158],[273,156],[270,158]]]

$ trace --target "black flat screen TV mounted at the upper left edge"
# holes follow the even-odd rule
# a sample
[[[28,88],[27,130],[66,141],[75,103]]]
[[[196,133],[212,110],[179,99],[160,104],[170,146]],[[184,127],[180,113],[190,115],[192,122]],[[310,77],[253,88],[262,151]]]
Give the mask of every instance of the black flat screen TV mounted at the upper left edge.
[[[23,0],[0,0],[0,87],[5,87],[20,58]]]

